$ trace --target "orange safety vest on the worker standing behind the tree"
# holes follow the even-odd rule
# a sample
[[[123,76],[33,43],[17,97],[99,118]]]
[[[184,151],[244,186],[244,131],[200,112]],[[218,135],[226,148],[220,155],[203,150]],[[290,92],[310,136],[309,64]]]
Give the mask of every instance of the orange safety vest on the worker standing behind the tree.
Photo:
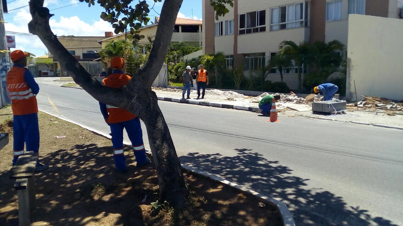
[[[126,74],[111,74],[110,76],[102,80],[102,84],[111,88],[120,88],[121,86],[129,83],[131,77]],[[112,105],[106,105],[108,111],[108,123],[120,123],[134,119],[136,116],[125,109],[114,107]]]

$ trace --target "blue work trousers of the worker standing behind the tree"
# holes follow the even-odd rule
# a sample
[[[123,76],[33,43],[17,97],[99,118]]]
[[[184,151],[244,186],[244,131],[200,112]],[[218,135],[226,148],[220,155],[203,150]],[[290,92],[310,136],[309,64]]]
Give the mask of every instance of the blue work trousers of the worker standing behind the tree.
[[[127,136],[129,136],[137,164],[143,164],[147,161],[143,143],[143,131],[141,130],[140,120],[137,117],[129,121],[110,123],[109,126],[112,134],[113,158],[119,171],[126,171],[126,159],[123,154],[123,129],[126,129]]]

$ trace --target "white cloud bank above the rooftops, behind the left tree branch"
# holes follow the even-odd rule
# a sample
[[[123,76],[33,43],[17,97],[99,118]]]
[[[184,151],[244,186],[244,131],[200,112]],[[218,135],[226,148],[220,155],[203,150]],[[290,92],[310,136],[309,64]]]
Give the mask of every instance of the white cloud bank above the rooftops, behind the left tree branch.
[[[31,14],[24,9],[13,16],[16,18],[13,23],[8,22],[4,25],[6,31],[29,33],[27,24],[31,21]],[[56,35],[104,36],[105,31],[113,31],[112,25],[106,21],[99,19],[89,24],[81,21],[78,16],[60,16],[58,20],[56,18],[50,19],[49,24]],[[34,53],[37,56],[44,55],[44,51],[47,50],[42,41],[36,36],[15,35],[15,43],[17,49]]]

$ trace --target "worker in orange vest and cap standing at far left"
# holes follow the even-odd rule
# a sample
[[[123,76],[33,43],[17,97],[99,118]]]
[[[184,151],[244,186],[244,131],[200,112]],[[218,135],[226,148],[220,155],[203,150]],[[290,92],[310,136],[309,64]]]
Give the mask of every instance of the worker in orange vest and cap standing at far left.
[[[27,68],[27,55],[21,50],[14,50],[10,53],[11,61],[14,63],[7,73],[7,95],[11,101],[13,115],[13,159],[12,166],[17,162],[18,156],[24,154],[24,143],[27,151],[34,152],[39,156],[39,125],[38,105],[36,95],[39,86],[33,79]],[[36,162],[35,171],[44,171],[49,166]]]

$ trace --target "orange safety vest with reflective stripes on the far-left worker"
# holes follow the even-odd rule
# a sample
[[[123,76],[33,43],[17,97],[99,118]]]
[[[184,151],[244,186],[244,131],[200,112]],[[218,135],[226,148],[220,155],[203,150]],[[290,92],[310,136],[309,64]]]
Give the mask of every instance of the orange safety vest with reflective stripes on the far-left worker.
[[[25,70],[28,69],[12,67],[7,73],[6,84],[10,92],[13,115],[28,115],[38,112],[36,97],[25,82]]]

